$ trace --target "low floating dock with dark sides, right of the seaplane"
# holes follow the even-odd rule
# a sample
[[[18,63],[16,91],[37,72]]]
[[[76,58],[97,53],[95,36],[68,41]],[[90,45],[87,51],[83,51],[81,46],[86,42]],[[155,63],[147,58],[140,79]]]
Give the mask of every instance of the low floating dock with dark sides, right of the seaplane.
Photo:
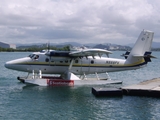
[[[92,88],[95,96],[119,96],[121,92],[122,95],[129,96],[160,97],[160,78],[121,88]]]

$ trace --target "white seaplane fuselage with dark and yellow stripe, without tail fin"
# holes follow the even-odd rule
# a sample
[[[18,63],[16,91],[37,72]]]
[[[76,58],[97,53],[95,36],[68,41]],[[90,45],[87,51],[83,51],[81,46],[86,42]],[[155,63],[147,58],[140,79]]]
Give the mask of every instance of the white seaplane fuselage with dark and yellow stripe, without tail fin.
[[[38,58],[36,58],[38,56]],[[63,74],[67,70],[74,74],[94,74],[138,69],[144,64],[126,64],[126,60],[92,56],[75,58],[73,65],[70,57],[49,57],[45,53],[37,52],[29,57],[6,62],[5,67],[24,72],[39,72],[43,74]],[[69,66],[71,68],[69,68]]]

